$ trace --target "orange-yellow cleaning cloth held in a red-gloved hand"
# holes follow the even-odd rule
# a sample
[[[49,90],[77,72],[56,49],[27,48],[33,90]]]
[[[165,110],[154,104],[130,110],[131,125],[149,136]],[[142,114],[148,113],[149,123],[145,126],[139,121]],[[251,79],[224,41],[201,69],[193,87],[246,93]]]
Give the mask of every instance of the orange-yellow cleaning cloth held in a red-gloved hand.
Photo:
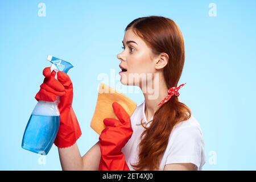
[[[101,134],[101,131],[105,128],[103,123],[105,118],[117,119],[112,107],[113,102],[118,102],[130,116],[137,107],[137,104],[133,100],[130,100],[129,97],[117,92],[117,90],[110,86],[101,83],[100,88],[98,89],[96,108],[92,121],[90,122],[90,127],[92,127],[98,134]]]

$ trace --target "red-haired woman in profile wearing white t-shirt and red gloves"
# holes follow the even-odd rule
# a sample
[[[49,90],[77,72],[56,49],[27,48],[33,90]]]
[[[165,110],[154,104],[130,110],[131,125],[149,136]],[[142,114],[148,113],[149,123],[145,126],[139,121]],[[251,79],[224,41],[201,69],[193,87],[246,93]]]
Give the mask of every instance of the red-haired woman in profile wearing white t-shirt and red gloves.
[[[102,131],[99,142],[84,156],[80,155],[76,144],[81,130],[72,109],[72,82],[63,72],[57,73],[57,81],[54,71],[44,69],[46,78],[35,98],[55,101],[56,96],[61,96],[61,124],[55,144],[62,168],[201,170],[205,154],[200,125],[191,110],[177,98],[179,89],[184,86],[177,87],[177,84],[185,60],[184,40],[179,27],[173,20],[162,16],[135,19],[125,29],[123,48],[117,55],[121,61],[121,82],[138,85],[144,94],[144,102],[131,117],[114,103],[119,122],[104,119],[106,129]],[[152,97],[149,85],[154,88],[156,97]]]

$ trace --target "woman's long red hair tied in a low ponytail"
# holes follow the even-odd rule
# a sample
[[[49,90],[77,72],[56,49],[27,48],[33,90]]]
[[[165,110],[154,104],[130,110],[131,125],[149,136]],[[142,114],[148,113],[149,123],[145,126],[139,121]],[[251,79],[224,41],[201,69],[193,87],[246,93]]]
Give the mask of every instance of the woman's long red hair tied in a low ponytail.
[[[154,54],[168,54],[169,60],[163,69],[164,80],[167,88],[177,87],[185,62],[183,35],[177,24],[163,16],[146,16],[133,20],[125,31],[129,28],[151,47]],[[141,123],[145,130],[140,138],[139,161],[131,166],[137,170],[158,170],[172,129],[190,117],[189,107],[172,96],[156,111],[150,127]]]

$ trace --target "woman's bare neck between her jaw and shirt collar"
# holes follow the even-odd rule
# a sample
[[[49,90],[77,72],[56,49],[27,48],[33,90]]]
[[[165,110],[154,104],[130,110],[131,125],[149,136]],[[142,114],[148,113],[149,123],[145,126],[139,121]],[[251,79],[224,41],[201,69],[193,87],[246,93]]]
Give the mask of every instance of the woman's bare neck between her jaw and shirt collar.
[[[154,77],[150,84],[147,83],[146,86],[141,86],[141,89],[145,100],[146,119],[150,121],[156,110],[160,107],[158,104],[168,95],[168,88],[163,75],[159,74],[159,78],[156,79],[156,77]]]

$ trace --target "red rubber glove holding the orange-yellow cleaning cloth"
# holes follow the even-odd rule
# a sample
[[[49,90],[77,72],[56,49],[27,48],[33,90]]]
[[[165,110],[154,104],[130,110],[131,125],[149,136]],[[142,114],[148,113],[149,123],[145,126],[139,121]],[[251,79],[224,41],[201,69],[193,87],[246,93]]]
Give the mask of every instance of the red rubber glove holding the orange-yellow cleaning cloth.
[[[131,138],[133,129],[129,114],[117,102],[112,104],[117,118],[105,118],[105,129],[102,130],[100,139],[101,160],[100,171],[129,171],[122,148]]]

